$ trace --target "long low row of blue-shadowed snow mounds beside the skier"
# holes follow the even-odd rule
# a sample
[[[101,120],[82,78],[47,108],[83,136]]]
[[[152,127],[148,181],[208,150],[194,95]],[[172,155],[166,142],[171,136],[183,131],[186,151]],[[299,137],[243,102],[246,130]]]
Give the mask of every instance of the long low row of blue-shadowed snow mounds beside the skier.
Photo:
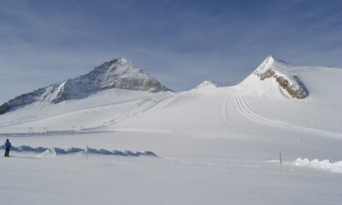
[[[1,150],[5,149],[5,146],[0,146]],[[11,147],[11,151],[15,152],[36,152],[36,153],[42,153],[40,156],[55,156],[56,154],[71,154],[76,152],[86,152],[86,149],[81,148],[69,148],[69,149],[61,149],[61,148],[31,148],[30,146],[18,146],[18,147]],[[114,150],[96,150],[92,148],[88,148],[88,153],[94,153],[94,154],[106,154],[106,155],[117,155],[117,156],[157,156],[155,153],[151,151],[144,151],[144,152],[132,152],[129,150],[126,150],[124,152]]]

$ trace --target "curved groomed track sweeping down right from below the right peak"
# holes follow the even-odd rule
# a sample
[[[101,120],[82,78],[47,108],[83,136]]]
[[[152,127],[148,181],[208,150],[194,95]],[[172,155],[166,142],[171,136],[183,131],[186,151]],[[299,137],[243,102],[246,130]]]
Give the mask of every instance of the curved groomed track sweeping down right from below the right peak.
[[[244,101],[244,98],[238,94],[233,93],[232,96],[235,99],[235,102],[237,104],[237,108],[239,109],[239,111],[244,114],[247,118],[250,118],[251,120],[254,120],[256,122],[260,122],[263,124],[267,124],[270,126],[278,126],[280,128],[287,128],[293,131],[302,131],[305,133],[311,133],[311,134],[315,134],[315,135],[323,135],[326,137],[333,137],[336,139],[342,139],[342,135],[339,133],[331,133],[328,131],[321,131],[321,130],[316,130],[313,128],[306,128],[306,127],[302,127],[302,126],[296,126],[293,124],[287,124],[285,122],[280,122],[277,120],[271,120],[269,118],[265,118],[261,115],[258,115],[257,113],[254,113],[249,107],[248,105],[246,105],[246,102]]]

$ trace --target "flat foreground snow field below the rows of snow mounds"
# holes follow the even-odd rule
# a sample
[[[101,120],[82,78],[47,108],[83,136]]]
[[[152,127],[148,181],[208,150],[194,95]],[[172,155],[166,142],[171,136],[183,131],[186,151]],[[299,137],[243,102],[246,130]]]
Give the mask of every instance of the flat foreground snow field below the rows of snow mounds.
[[[260,159],[84,153],[2,158],[5,204],[339,204],[340,177]],[[39,170],[37,172],[37,170]],[[314,179],[314,180],[313,180]]]

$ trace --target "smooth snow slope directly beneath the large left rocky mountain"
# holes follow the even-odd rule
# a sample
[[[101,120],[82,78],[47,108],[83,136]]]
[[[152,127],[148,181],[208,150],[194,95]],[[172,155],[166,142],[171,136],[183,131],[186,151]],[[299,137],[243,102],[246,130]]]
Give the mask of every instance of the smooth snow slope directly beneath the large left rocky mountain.
[[[144,91],[112,88],[96,92],[88,98],[68,100],[57,104],[34,102],[0,115],[0,118],[3,119],[0,121],[0,126],[4,129],[8,128],[8,125],[14,126],[16,131],[21,132],[27,132],[29,127],[36,128],[38,131],[44,131],[44,127],[49,128],[49,131],[64,131],[71,130],[73,126],[78,128],[94,126],[124,115],[125,109],[129,109],[144,98],[157,98],[157,96],[167,93],[172,92],[151,94]],[[11,130],[9,129],[9,131]]]

